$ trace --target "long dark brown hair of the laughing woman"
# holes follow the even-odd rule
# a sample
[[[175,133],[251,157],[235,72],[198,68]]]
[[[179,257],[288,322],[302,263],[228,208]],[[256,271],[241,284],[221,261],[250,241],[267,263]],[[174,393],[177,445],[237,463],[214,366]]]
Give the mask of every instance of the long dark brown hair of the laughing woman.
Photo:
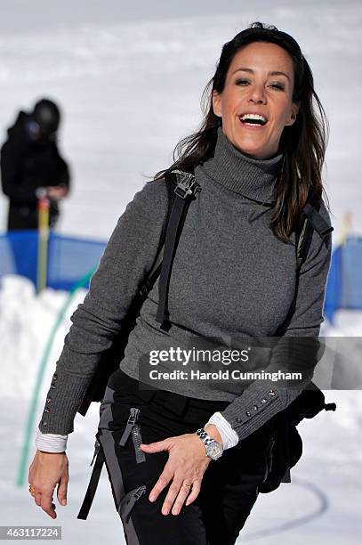
[[[275,204],[270,218],[270,227],[275,236],[289,242],[291,232],[301,220],[302,207],[307,199],[317,202],[322,198],[322,193],[326,197],[322,167],[329,126],[326,112],[314,90],[310,65],[302,55],[300,46],[293,37],[273,25],[253,22],[223,45],[216,71],[202,94],[204,119],[199,130],[178,142],[173,150],[173,165],[159,171],[154,179],[164,177],[166,172],[175,168],[192,173],[197,165],[213,157],[217,130],[221,126],[221,118],[213,113],[213,91],[222,93],[235,54],[253,42],[277,44],[290,54],[294,62],[293,102],[300,102],[300,109],[294,124],[286,126],[280,138],[279,150],[283,152],[283,160],[275,184]]]

